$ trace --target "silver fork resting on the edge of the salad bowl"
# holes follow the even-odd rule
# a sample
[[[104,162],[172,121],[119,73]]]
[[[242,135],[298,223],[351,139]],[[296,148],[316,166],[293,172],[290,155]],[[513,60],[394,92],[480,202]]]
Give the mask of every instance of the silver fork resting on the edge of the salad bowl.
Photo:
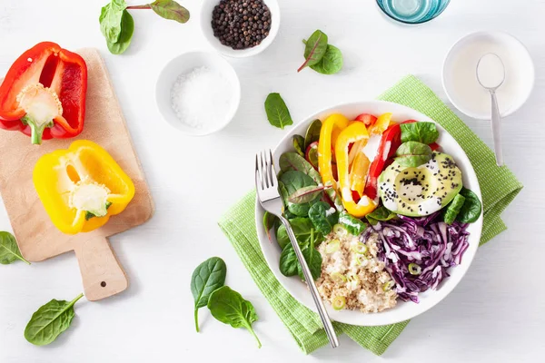
[[[292,241],[293,250],[295,250],[295,255],[297,255],[297,260],[301,263],[304,280],[307,281],[309,289],[311,290],[312,299],[314,299],[318,314],[322,319],[327,338],[329,338],[332,348],[339,347],[339,339],[333,329],[332,320],[329,318],[329,315],[327,315],[327,311],[323,306],[318,289],[316,289],[316,284],[314,284],[314,279],[312,279],[311,270],[309,270],[306,260],[304,260],[304,257],[302,256],[299,243],[295,238],[295,234],[293,234],[292,226],[290,225],[290,222],[282,216],[282,198],[278,192],[278,180],[276,179],[276,172],[274,171],[274,165],[272,163],[272,152],[270,150],[268,153],[258,153],[255,157],[255,189],[257,190],[257,199],[263,209],[278,217],[286,227],[288,236]]]

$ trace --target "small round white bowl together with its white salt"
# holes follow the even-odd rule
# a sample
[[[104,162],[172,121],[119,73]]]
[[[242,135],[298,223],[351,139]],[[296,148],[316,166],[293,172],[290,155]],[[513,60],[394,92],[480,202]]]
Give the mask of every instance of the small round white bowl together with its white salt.
[[[193,52],[166,64],[155,87],[164,120],[194,136],[223,129],[233,120],[241,100],[236,72],[221,55]]]

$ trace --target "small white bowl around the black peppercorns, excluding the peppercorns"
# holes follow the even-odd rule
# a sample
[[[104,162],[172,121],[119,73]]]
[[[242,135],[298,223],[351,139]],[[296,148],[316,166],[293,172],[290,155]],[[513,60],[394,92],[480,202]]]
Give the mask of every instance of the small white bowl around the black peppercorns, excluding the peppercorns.
[[[223,45],[220,40],[213,35],[211,25],[212,12],[213,8],[220,4],[220,0],[203,0],[200,20],[204,37],[217,52],[233,58],[243,58],[262,53],[272,44],[272,41],[276,37],[276,34],[278,34],[278,29],[280,28],[280,7],[278,6],[278,2],[276,0],[263,0],[263,3],[269,7],[269,11],[271,12],[271,30],[269,31],[269,35],[263,39],[262,43],[255,45],[252,48],[233,49],[230,46]]]

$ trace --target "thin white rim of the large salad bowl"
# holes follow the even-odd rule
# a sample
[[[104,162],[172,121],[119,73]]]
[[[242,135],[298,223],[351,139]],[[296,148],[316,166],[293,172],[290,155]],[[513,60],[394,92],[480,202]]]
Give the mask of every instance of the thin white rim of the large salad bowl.
[[[479,183],[479,180],[477,178],[477,174],[475,173],[474,171],[474,168],[471,164],[471,161],[469,159],[469,157],[467,156],[467,154],[465,153],[465,151],[461,148],[460,144],[456,141],[456,139],[454,139],[454,137],[450,134],[450,132],[446,131],[439,123],[435,122],[434,120],[431,119],[431,117],[417,111],[417,110],[414,110],[413,108],[409,107],[409,106],[406,106],[406,105],[403,105],[403,104],[400,104],[400,103],[391,103],[391,102],[388,102],[388,101],[380,101],[380,100],[371,100],[371,101],[359,101],[359,102],[348,102],[348,103],[338,103],[338,104],[335,104],[335,105],[332,105],[330,107],[326,107],[326,108],[323,108],[322,110],[316,112],[316,113],[312,113],[310,115],[308,115],[308,117],[305,117],[304,119],[302,119],[302,122],[300,123],[297,123],[295,125],[295,127],[292,128],[292,130],[290,130],[290,132],[288,132],[287,134],[285,134],[282,139],[280,140],[280,142],[278,142],[273,150],[273,159],[274,161],[277,161],[278,160],[278,149],[280,147],[282,147],[282,144],[285,143],[289,138],[292,137],[292,135],[298,131],[299,128],[302,128],[303,126],[302,125],[306,125],[308,126],[308,123],[311,123],[312,120],[318,118],[318,116],[321,116],[323,115],[324,113],[339,113],[342,111],[343,108],[347,108],[347,107],[351,107],[351,106],[360,106],[362,105],[362,112],[365,112],[365,105],[369,105],[370,103],[376,103],[376,104],[382,104],[382,105],[387,105],[389,107],[396,107],[396,108],[404,108],[405,110],[411,112],[411,113],[414,113],[415,116],[418,116],[418,120],[420,121],[431,121],[433,123],[436,123],[436,125],[438,126],[439,130],[440,130],[440,134],[444,133],[446,135],[448,135],[449,138],[451,138],[451,142],[454,142],[455,145],[458,145],[458,148],[460,150],[460,152],[456,152],[456,158],[459,159],[459,158],[462,158],[462,159],[465,159],[463,161],[464,164],[466,165],[469,165],[469,172],[466,172],[467,175],[466,177],[467,178],[471,178],[471,191],[474,191],[479,199],[482,201],[482,194],[481,194],[481,186],[480,186],[480,183]],[[392,106],[393,105],[393,106]],[[304,301],[303,299],[299,299],[298,297],[298,294],[296,293],[293,293],[294,290],[292,290],[289,286],[286,286],[284,285],[284,283],[282,282],[282,280],[284,279],[291,279],[291,278],[286,278],[284,277],[280,271],[277,269],[277,268],[274,268],[272,267],[272,262],[276,262],[276,264],[278,264],[278,261],[272,261],[271,258],[272,256],[265,252],[265,250],[263,249],[263,246],[266,245],[266,244],[270,244],[271,242],[266,238],[266,233],[264,232],[263,230],[263,209],[261,207],[261,205],[259,204],[259,201],[256,199],[255,201],[255,223],[256,223],[256,231],[257,231],[257,238],[259,240],[259,243],[260,243],[260,248],[263,252],[263,257],[264,257],[264,260],[266,260],[267,262],[267,265],[268,267],[270,268],[270,270],[272,271],[272,274],[274,275],[275,279],[278,280],[278,282],[282,285],[282,287],[284,289],[286,289],[286,291],[292,296],[293,299],[296,299],[299,303],[301,303],[303,306],[305,306],[306,308],[308,309],[311,309],[312,311],[316,312],[316,307],[312,304],[312,303],[307,303],[307,301]],[[370,314],[365,314],[365,313],[361,313],[359,311],[353,311],[353,310],[341,310],[341,311],[335,311],[333,310],[328,304],[325,304],[326,305],[326,309],[328,311],[328,314],[330,315],[330,317],[333,319],[333,320],[336,320],[336,321],[339,321],[339,322],[342,322],[342,323],[346,323],[346,324],[352,324],[352,325],[356,325],[356,326],[382,326],[382,325],[388,325],[388,324],[395,324],[395,323],[399,323],[399,322],[402,322],[402,321],[405,321],[407,319],[412,319],[412,318],[415,318],[419,315],[421,315],[422,313],[428,311],[429,309],[433,308],[434,306],[436,306],[438,303],[440,303],[443,299],[445,299],[447,296],[449,296],[449,294],[451,294],[452,290],[456,288],[456,286],[458,286],[458,284],[461,282],[461,280],[463,280],[465,274],[467,273],[467,271],[470,269],[471,267],[471,263],[472,261],[474,260],[474,257],[477,253],[477,249],[479,248],[479,244],[481,242],[481,233],[482,233],[482,222],[483,222],[483,211],[481,211],[481,216],[479,218],[478,221],[475,221],[474,223],[471,223],[474,227],[474,230],[471,235],[470,235],[470,238],[471,236],[474,236],[471,240],[470,240],[470,247],[468,248],[468,250],[466,250],[466,254],[464,254],[464,259],[462,261],[462,264],[457,266],[456,268],[461,268],[463,266],[463,269],[461,270],[461,275],[457,278],[457,280],[453,280],[451,283],[448,283],[449,280],[446,280],[447,281],[447,284],[445,286],[445,282],[442,283],[441,285],[441,289],[442,291],[444,291],[444,294],[441,292],[442,296],[440,296],[439,299],[435,299],[434,301],[432,300],[431,303],[429,303],[428,305],[424,305],[424,308],[417,311],[416,313],[409,313],[409,314],[401,314],[401,313],[398,313],[398,314],[394,314],[394,317],[391,317],[391,319],[381,319],[381,318],[371,318],[370,320],[371,321],[352,321],[352,320],[349,320],[349,319],[344,319],[345,317],[348,317],[350,314],[343,314],[343,311],[348,311],[348,312],[355,312],[357,314],[361,314],[359,315],[360,319],[361,320],[368,320],[368,318],[366,317],[380,317],[382,312],[379,312],[379,313],[370,313]],[[264,238],[263,238],[264,236]],[[449,279],[452,279],[453,277],[451,276]],[[306,288],[304,287],[304,284],[301,282],[301,287],[302,289],[305,289]],[[299,289],[301,291],[301,289]],[[438,291],[440,291],[438,290]],[[427,291],[427,292],[432,292],[432,293],[435,293],[436,291]],[[310,297],[310,294],[309,294],[309,297]],[[309,297],[307,297],[309,299],[309,302],[312,300],[310,299]],[[408,303],[408,302],[403,302],[403,301],[399,301],[398,300],[398,304],[400,303]],[[390,310],[384,310],[384,312],[387,312],[387,311],[390,311]]]

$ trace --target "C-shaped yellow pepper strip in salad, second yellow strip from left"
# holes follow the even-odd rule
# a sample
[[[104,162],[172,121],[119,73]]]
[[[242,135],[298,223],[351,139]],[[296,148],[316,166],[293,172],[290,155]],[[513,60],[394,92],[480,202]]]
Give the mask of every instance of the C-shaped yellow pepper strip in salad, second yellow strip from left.
[[[346,208],[346,211],[357,218],[362,218],[374,211],[377,203],[366,195],[362,195],[362,199],[358,203],[353,200],[348,146],[352,142],[366,142],[368,139],[369,132],[367,132],[365,124],[352,123],[341,132],[335,143],[335,156],[337,157],[337,171],[339,173],[339,189],[341,190],[342,204]]]

